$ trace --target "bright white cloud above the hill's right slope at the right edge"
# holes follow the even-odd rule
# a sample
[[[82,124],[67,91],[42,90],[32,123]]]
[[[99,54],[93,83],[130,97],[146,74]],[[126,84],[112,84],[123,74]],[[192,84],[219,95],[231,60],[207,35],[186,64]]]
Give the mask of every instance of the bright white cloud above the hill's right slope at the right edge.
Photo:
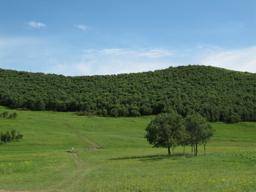
[[[256,73],[256,46],[244,49],[211,51],[202,56],[200,64]]]

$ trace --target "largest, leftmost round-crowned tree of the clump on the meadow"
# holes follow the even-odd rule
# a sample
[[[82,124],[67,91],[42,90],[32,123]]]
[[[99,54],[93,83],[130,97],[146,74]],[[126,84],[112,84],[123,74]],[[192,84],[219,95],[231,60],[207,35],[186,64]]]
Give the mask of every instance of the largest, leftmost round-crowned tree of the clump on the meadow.
[[[154,145],[153,147],[168,148],[169,155],[171,154],[170,148],[172,148],[175,157],[174,149],[179,145],[177,134],[182,127],[183,118],[176,112],[160,113],[148,124],[145,138],[149,144]]]

